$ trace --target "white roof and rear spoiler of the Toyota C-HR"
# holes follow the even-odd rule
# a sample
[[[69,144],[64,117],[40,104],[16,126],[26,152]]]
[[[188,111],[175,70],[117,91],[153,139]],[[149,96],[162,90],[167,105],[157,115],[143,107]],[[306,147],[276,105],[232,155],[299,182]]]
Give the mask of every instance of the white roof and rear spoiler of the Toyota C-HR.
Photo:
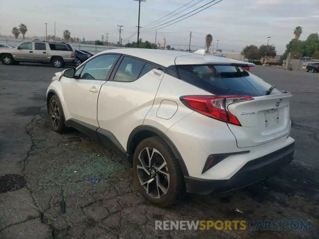
[[[184,51],[159,50],[159,49],[141,49],[141,48],[120,48],[100,52],[127,54],[154,62],[164,67],[171,65],[191,65],[191,64],[244,64],[255,66],[253,63],[232,60],[213,55],[200,55]]]

